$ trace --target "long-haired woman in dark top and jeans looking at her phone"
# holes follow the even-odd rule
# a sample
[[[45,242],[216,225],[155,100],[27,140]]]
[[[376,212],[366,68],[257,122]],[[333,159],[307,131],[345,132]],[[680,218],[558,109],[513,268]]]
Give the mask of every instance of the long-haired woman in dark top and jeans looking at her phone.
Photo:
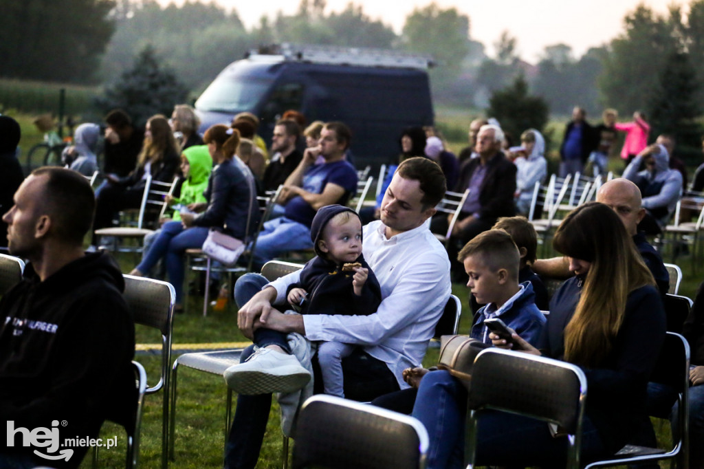
[[[665,312],[655,280],[623,223],[608,206],[591,202],[567,215],[553,246],[570,261],[574,277],[551,300],[536,348],[513,334],[517,351],[578,365],[589,398],[582,458],[614,454],[638,429],[648,377],[665,339]],[[495,346],[511,348],[491,334]],[[428,468],[463,467],[465,406],[462,384],[443,370],[427,373],[413,408],[428,430]],[[565,437],[532,418],[482,413],[478,465],[564,465]]]

